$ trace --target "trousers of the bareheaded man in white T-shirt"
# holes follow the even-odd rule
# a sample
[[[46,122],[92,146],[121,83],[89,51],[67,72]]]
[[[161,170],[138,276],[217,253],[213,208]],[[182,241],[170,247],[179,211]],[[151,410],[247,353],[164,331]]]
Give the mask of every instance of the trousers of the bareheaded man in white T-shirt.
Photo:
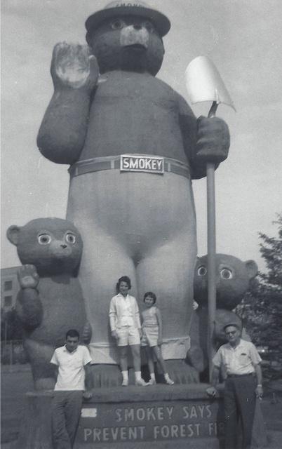
[[[83,391],[54,391],[52,429],[55,449],[72,449],[81,415]]]

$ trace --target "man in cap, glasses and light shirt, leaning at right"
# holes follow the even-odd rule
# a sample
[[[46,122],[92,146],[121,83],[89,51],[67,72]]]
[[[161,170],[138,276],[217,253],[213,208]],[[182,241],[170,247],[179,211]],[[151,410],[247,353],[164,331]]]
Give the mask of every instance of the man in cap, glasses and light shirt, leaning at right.
[[[228,343],[222,344],[213,357],[212,387],[206,391],[215,396],[220,368],[227,379],[224,384],[225,447],[237,448],[238,421],[243,427],[242,449],[250,448],[256,397],[262,397],[262,359],[251,342],[241,339],[236,323],[224,326]]]

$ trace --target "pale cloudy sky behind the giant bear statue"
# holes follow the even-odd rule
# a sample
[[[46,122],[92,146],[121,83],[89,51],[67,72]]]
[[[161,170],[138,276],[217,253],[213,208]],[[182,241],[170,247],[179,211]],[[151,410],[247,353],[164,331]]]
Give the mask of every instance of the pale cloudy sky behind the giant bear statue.
[[[55,43],[85,43],[84,22],[107,0],[1,0],[1,267],[20,262],[10,225],[65,217],[67,166],[44,159],[36,135],[53,94]],[[277,235],[282,212],[281,0],[147,0],[168,16],[166,54],[157,77],[188,102],[184,72],[206,55],[236,107],[220,105],[231,134],[215,174],[217,253],[253,259],[265,271],[259,232]],[[192,105],[196,116],[210,104]],[[206,179],[193,182],[198,254],[207,252]]]

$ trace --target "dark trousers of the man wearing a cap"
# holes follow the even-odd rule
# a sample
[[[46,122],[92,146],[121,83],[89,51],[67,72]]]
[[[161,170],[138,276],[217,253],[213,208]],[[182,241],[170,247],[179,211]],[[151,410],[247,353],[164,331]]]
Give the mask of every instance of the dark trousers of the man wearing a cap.
[[[227,377],[224,387],[225,448],[236,449],[241,418],[243,438],[242,449],[250,448],[253,419],[255,415],[254,375],[234,375]]]

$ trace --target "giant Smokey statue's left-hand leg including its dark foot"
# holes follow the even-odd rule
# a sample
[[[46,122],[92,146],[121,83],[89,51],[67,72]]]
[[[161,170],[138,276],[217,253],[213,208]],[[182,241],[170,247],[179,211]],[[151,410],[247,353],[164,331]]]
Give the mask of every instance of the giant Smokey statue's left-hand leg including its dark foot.
[[[82,225],[79,229],[83,234],[81,227]],[[84,246],[79,270],[87,319],[93,334],[88,346],[93,359],[89,384],[92,388],[113,387],[121,385],[122,378],[119,352],[109,326],[109,303],[116,295],[116,283],[121,276],[130,278],[132,288],[129,294],[137,296],[135,266],[126,250],[113,236],[108,236],[98,228],[91,232],[91,236],[91,246]],[[130,361],[129,355],[129,366]]]

